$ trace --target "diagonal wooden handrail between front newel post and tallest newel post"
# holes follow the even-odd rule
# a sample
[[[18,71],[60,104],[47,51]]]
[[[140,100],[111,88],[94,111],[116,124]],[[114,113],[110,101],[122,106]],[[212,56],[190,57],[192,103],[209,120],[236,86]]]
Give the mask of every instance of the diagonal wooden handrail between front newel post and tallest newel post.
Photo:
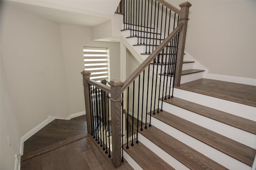
[[[124,81],[124,85],[121,88],[121,92],[124,92],[126,88],[140,75],[140,73],[151,63],[151,61],[168,45],[168,43],[182,30],[183,23],[180,23],[173,31],[160,43],[160,45],[144,60],[140,66]]]

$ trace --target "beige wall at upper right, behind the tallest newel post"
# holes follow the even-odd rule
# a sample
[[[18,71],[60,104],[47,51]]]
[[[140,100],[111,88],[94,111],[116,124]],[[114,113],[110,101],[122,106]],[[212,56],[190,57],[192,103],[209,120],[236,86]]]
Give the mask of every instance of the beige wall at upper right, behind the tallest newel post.
[[[180,9],[184,1],[168,2]],[[210,74],[256,78],[256,1],[189,2],[185,50]]]

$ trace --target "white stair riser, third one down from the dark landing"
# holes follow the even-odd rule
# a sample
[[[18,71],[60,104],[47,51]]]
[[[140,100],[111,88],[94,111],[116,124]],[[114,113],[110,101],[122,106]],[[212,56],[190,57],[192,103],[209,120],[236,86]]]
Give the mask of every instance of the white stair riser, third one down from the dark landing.
[[[182,143],[188,145],[189,147],[192,147],[198,152],[204,154],[208,158],[211,158],[215,162],[218,162],[222,166],[225,166],[228,169],[232,169],[232,170],[241,170],[241,169],[250,170],[251,169],[250,166],[247,166],[246,164],[232,158],[231,156],[228,156],[223,152],[220,152],[219,150],[216,150],[210,147],[209,145],[206,145],[201,141],[198,141],[197,139],[194,139],[193,137],[186,135],[185,133],[182,133],[181,131],[163,123],[162,121],[155,119],[154,117],[151,118],[151,124],[157,127],[158,129],[164,131],[168,135],[171,135],[172,137],[178,139]]]

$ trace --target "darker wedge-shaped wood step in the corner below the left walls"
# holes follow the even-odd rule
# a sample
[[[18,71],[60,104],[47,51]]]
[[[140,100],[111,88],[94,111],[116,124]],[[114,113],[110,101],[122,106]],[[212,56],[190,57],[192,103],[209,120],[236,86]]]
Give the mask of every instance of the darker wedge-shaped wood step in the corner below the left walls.
[[[24,142],[21,161],[72,143],[86,135],[86,121],[54,119]]]

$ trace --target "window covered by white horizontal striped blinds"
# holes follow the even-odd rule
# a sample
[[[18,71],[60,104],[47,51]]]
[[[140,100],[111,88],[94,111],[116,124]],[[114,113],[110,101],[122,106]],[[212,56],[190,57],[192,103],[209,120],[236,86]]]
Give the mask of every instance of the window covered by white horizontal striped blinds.
[[[108,80],[108,48],[84,47],[84,70],[90,71],[90,79]]]

